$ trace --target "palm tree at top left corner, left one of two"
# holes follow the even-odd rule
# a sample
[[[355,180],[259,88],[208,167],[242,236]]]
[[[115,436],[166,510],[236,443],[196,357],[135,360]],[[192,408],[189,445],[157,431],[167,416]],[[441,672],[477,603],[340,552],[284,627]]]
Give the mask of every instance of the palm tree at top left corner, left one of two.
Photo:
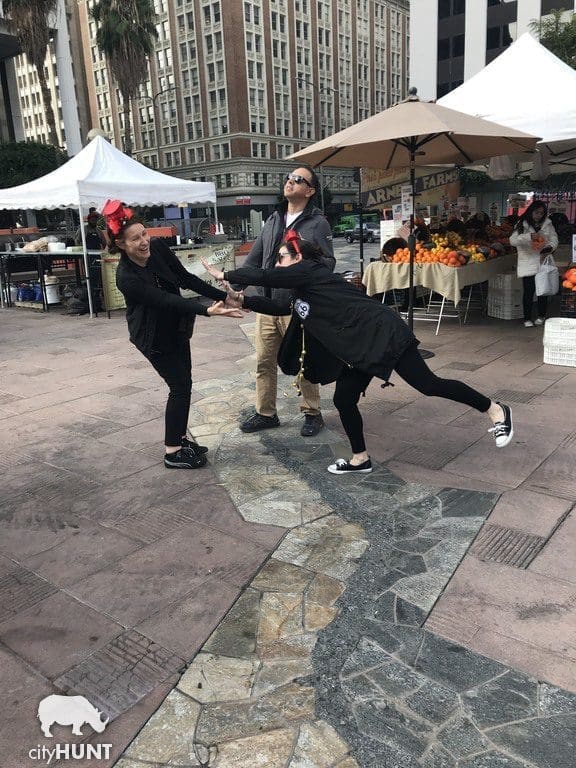
[[[44,62],[52,36],[50,20],[56,11],[56,3],[57,0],[4,0],[4,13],[10,28],[14,31],[26,58],[36,69],[48,126],[48,141],[55,147],[59,144],[56,118]]]

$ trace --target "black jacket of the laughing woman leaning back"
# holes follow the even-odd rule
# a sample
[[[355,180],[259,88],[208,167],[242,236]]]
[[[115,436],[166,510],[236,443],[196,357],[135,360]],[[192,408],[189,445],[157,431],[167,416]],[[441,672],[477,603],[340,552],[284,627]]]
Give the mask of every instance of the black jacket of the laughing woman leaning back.
[[[169,286],[168,290],[158,286],[156,276]],[[196,315],[208,315],[204,304],[180,296],[180,288],[190,288],[218,301],[226,298],[224,291],[187,272],[166,243],[157,239],[150,241],[150,258],[145,267],[122,253],[116,270],[116,286],[126,299],[130,341],[145,355],[152,351],[156,326],[163,313],[182,318],[180,327],[188,338]]]

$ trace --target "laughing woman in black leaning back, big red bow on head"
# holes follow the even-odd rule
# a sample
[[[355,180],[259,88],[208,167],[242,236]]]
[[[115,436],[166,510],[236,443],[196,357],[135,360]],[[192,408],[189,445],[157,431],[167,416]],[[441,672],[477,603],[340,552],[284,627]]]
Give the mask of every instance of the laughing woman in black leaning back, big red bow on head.
[[[190,338],[196,315],[242,317],[225,306],[226,293],[190,274],[173,251],[150,239],[143,222],[119,200],[109,200],[102,211],[111,253],[120,252],[116,285],[126,299],[130,341],[142,352],[170,389],[165,414],[164,465],[198,469],[206,464],[207,448],[186,436],[192,393]],[[180,288],[190,288],[214,299],[206,307],[185,299]]]

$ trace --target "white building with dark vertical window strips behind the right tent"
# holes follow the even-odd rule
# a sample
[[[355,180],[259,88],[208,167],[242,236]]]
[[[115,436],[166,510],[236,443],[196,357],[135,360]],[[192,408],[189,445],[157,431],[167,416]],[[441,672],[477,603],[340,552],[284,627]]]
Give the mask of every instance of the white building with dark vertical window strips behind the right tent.
[[[421,98],[444,96],[555,8],[571,13],[576,1],[412,0],[410,84]]]

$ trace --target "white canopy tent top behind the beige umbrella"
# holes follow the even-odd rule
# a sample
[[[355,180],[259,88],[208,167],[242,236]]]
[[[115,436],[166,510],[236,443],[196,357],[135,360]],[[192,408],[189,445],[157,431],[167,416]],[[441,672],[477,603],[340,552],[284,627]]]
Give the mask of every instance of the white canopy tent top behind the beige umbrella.
[[[542,136],[555,170],[576,167],[576,70],[528,32],[438,104]]]

